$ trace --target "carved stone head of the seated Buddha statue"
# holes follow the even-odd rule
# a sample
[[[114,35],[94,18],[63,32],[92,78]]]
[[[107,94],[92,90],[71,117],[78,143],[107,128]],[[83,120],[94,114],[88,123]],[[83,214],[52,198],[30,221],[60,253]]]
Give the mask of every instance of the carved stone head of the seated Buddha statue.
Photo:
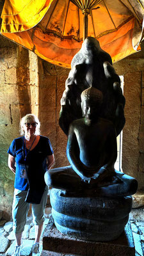
[[[99,109],[102,104],[102,92],[90,87],[81,93],[81,109],[83,116],[93,120],[99,116]]]

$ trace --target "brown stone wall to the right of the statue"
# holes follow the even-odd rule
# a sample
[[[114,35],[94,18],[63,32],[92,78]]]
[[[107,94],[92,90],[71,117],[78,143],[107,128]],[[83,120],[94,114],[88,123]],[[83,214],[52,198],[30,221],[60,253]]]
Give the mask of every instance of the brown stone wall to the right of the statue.
[[[114,64],[117,74],[124,76],[125,126],[123,130],[122,169],[138,180],[144,190],[144,44],[141,51]]]

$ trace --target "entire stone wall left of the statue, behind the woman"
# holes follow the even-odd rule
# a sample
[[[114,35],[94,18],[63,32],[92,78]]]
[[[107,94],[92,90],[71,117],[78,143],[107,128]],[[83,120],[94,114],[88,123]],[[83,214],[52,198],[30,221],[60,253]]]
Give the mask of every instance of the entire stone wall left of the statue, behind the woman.
[[[55,166],[68,164],[67,137],[58,125],[60,99],[68,72],[38,58],[33,52],[0,36],[0,208],[9,218],[12,209],[14,175],[7,166],[6,153],[20,136],[20,118],[33,113],[40,118],[41,134],[54,148]]]

